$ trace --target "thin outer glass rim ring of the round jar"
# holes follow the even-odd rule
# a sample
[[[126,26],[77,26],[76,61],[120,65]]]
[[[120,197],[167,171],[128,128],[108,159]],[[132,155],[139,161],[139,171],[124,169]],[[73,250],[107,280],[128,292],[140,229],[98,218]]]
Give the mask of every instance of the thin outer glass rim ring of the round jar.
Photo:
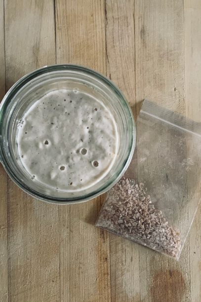
[[[119,169],[120,171],[118,171],[116,174],[118,174],[118,176],[114,176],[111,180],[110,183],[106,183],[104,186],[100,187],[98,190],[93,191],[90,194],[81,196],[80,198],[51,198],[48,195],[43,195],[40,194],[37,191],[32,190],[31,188],[29,188],[25,183],[23,183],[18,177],[17,175],[15,175],[12,171],[12,168],[9,165],[9,162],[7,161],[6,157],[3,154],[3,146],[2,146],[2,141],[1,141],[1,137],[2,137],[2,121],[4,118],[4,112],[8,106],[8,104],[10,103],[10,101],[12,101],[13,97],[16,95],[16,93],[23,88],[26,84],[28,84],[29,82],[31,82],[32,80],[34,80],[35,78],[48,74],[48,73],[52,73],[52,72],[64,72],[64,71],[68,71],[68,72],[78,72],[78,73],[82,73],[82,74],[86,74],[87,76],[90,76],[92,78],[95,78],[96,80],[99,80],[101,83],[103,83],[104,85],[106,85],[107,87],[110,88],[110,90],[112,90],[112,92],[116,95],[116,97],[121,100],[125,105],[126,105],[126,109],[127,112],[129,114],[128,116],[128,120],[130,123],[130,129],[132,132],[131,135],[131,141],[129,144],[129,150],[127,152],[127,157],[124,159],[124,162],[121,165],[121,169]],[[134,122],[134,118],[133,118],[133,114],[131,111],[131,108],[128,104],[128,101],[126,100],[126,98],[124,97],[124,95],[121,93],[120,89],[110,80],[108,79],[106,76],[102,75],[101,73],[90,69],[88,67],[84,67],[81,65],[74,65],[74,64],[60,64],[60,65],[50,65],[50,66],[44,66],[40,69],[37,69],[25,76],[23,76],[21,79],[19,79],[6,93],[6,95],[4,96],[2,102],[0,103],[0,161],[2,162],[7,174],[10,176],[10,178],[18,185],[18,187],[20,187],[22,190],[24,190],[26,193],[28,193],[29,195],[40,199],[42,201],[47,201],[50,203],[57,203],[57,204],[70,204],[70,203],[78,203],[78,202],[82,202],[82,201],[88,201],[90,199],[93,199],[97,196],[99,196],[100,194],[105,193],[106,191],[108,191],[109,189],[111,189],[117,182],[118,180],[122,177],[122,175],[124,174],[125,170],[127,169],[130,160],[132,158],[133,152],[134,152],[134,148],[135,148],[135,139],[136,139],[136,131],[135,131],[135,122]]]

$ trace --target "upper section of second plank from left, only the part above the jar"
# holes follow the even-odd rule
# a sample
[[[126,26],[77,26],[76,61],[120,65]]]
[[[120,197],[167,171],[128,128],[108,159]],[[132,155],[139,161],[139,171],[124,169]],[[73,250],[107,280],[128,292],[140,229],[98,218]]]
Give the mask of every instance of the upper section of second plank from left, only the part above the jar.
[[[6,90],[26,73],[55,64],[54,5],[5,1]]]

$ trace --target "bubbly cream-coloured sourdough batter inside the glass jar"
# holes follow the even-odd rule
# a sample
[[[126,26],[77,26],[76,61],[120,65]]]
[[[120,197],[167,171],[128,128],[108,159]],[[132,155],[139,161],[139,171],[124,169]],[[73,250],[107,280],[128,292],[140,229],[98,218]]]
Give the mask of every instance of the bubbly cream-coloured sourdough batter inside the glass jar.
[[[118,150],[114,117],[99,100],[57,90],[36,101],[18,132],[18,152],[30,177],[56,190],[77,191],[99,182]]]

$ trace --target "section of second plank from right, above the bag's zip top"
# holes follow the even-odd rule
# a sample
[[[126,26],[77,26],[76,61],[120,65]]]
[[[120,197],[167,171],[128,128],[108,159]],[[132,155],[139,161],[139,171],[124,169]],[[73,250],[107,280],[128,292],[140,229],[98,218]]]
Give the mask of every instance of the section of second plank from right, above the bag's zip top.
[[[135,1],[136,101],[184,113],[183,4]]]

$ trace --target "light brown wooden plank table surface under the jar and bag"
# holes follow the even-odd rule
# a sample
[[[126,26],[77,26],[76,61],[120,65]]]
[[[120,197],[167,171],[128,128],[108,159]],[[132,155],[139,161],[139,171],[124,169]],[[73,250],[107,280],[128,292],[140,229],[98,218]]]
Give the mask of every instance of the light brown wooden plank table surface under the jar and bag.
[[[199,0],[0,0],[0,98],[41,66],[112,79],[201,122]],[[105,195],[52,205],[0,166],[1,302],[201,302],[201,206],[180,261],[94,227]]]

